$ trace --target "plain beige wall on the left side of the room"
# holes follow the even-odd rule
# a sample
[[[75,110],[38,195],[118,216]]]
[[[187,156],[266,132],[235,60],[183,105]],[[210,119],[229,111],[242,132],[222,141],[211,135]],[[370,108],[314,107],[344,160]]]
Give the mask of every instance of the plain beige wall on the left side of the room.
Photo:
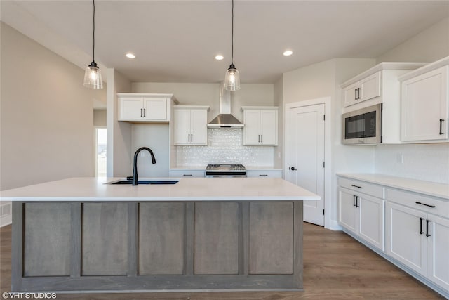
[[[0,190],[94,176],[93,99],[105,90],[86,89],[83,70],[0,24]]]

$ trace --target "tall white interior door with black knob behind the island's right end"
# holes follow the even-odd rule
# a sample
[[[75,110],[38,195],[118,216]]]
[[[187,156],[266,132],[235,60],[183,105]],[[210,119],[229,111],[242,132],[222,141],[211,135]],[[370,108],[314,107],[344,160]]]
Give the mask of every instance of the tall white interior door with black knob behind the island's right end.
[[[324,104],[295,107],[288,113],[286,179],[321,196],[304,201],[304,221],[324,226]]]

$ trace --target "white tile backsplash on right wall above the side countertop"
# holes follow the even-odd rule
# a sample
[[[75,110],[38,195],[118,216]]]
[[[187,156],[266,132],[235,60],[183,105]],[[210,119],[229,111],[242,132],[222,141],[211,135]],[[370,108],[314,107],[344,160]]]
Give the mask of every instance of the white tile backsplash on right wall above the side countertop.
[[[375,172],[449,184],[449,144],[377,145]]]

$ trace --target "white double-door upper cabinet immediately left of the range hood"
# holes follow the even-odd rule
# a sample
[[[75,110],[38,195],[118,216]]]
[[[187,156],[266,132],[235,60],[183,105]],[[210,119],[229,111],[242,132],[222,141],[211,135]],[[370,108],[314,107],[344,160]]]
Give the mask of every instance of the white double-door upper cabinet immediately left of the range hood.
[[[174,107],[173,143],[175,145],[207,145],[208,106]]]

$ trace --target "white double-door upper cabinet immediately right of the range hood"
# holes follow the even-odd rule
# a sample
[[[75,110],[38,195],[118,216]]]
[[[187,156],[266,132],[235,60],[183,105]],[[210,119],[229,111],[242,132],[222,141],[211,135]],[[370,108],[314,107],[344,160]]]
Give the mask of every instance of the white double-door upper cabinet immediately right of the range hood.
[[[278,107],[245,106],[243,145],[278,144]]]

